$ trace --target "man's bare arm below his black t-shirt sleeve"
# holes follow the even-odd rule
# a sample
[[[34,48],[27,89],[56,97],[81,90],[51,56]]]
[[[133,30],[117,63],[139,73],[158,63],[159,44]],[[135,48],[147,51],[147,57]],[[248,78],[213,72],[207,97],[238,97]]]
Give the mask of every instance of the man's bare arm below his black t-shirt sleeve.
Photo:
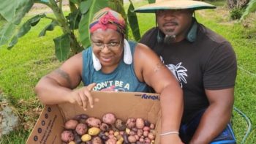
[[[210,105],[203,114],[190,144],[210,143],[230,122],[234,88],[206,90],[206,95]]]

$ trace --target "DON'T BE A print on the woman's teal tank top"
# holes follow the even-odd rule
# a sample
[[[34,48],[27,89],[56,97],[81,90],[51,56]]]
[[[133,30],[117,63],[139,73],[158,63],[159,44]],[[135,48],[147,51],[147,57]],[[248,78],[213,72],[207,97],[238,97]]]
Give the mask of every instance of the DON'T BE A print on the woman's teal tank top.
[[[108,80],[102,83],[97,83],[94,86],[94,91],[128,91],[129,83],[124,83],[120,80]]]

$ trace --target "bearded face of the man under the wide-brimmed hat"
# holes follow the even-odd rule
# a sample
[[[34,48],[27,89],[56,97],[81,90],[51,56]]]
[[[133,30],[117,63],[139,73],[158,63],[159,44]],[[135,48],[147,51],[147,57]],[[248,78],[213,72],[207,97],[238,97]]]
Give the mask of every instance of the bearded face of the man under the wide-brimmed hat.
[[[186,37],[192,23],[192,13],[192,10],[157,10],[158,26],[167,40],[180,42]]]

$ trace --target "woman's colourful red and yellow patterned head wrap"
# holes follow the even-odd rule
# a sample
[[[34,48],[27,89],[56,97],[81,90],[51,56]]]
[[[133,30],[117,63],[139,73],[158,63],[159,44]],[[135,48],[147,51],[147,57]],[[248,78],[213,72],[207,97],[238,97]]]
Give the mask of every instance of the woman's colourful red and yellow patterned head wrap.
[[[89,28],[90,33],[93,33],[97,29],[102,29],[104,31],[106,29],[113,29],[124,35],[125,21],[118,12],[111,10],[109,7],[105,7],[94,15]]]

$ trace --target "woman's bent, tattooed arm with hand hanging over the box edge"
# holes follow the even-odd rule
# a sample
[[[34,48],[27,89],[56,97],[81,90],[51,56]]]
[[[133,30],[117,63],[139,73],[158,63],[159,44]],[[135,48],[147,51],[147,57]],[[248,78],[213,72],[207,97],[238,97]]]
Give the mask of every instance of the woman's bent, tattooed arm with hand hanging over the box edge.
[[[80,84],[82,68],[82,53],[78,53],[65,61],[61,67],[42,77],[35,88],[39,100],[48,105],[70,102],[78,103],[86,109],[87,102],[90,102],[92,106],[93,100],[89,91],[95,84],[74,89]]]

